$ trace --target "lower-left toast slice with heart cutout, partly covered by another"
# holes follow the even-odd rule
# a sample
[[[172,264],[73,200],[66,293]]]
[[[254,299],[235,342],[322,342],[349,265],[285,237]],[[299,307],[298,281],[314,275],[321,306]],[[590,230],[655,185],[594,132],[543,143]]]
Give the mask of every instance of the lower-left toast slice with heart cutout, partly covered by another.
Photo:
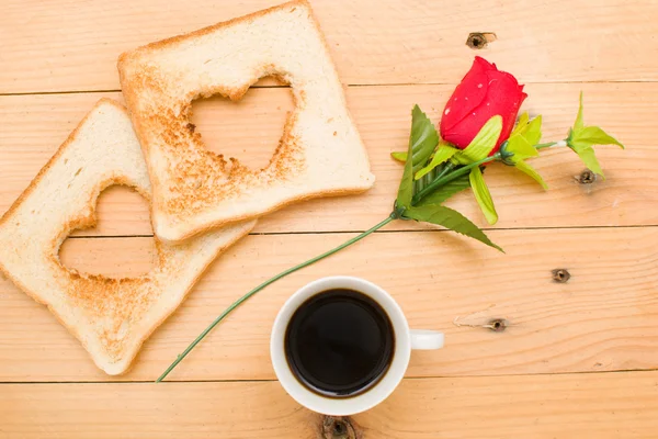
[[[123,106],[101,100],[0,219],[0,271],[47,305],[111,375],[128,369],[211,261],[256,224],[236,223],[178,246],[156,239],[156,266],[138,278],[67,269],[59,261],[61,243],[73,229],[94,225],[97,198],[112,184],[150,200],[131,120]]]

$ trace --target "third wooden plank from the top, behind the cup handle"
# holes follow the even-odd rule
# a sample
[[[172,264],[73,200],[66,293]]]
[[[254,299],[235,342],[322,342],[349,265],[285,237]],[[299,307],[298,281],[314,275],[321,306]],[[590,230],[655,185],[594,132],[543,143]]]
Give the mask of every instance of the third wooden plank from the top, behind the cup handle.
[[[409,376],[503,375],[658,368],[658,228],[495,230],[507,255],[453,233],[379,233],[253,297],[204,340],[172,380],[272,379],[269,335],[277,309],[331,274],[389,291],[410,325],[446,334],[415,352]],[[349,234],[249,236],[219,258],[120,380],[155,380],[226,306],[265,279]],[[76,238],[63,260],[80,270],[148,270],[150,238]],[[567,283],[552,270],[566,268]],[[484,327],[503,318],[495,333]],[[0,282],[0,381],[109,380],[43,307]]]

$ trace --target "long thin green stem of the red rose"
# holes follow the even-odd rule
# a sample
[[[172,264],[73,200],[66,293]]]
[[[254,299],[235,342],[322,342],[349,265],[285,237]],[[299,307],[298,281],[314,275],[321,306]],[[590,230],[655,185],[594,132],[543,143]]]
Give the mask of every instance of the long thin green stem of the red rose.
[[[551,146],[549,144],[545,144],[547,146]],[[429,195],[430,193],[432,193],[434,190],[436,190],[438,188],[440,188],[441,185],[458,178],[462,177],[466,173],[468,173],[470,171],[470,169],[475,168],[476,166],[481,166],[485,164],[488,164],[490,161],[494,160],[499,160],[501,159],[501,155],[500,153],[495,154],[494,156],[490,157],[486,157],[481,160],[475,161],[473,164],[463,166],[461,168],[457,168],[455,170],[454,167],[449,164],[446,166],[447,170],[444,170],[443,172],[441,172],[438,178],[432,181],[430,184],[428,184],[427,188],[424,188],[422,191],[420,191],[419,193],[417,193],[412,201],[411,204],[418,204],[423,198],[426,198],[427,195]],[[204,329],[203,333],[201,333],[198,335],[198,337],[196,337],[196,339],[194,341],[192,341],[192,344],[190,346],[188,346],[188,348],[180,353],[175,361],[173,363],[171,363],[171,365],[169,368],[167,368],[167,370],[164,371],[164,373],[162,373],[157,380],[156,382],[159,383],[162,380],[164,380],[164,378],[167,378],[167,375],[178,365],[178,363],[180,363],[186,356],[188,353],[190,353],[190,351],[192,349],[194,349],[196,347],[196,345],[198,345],[198,342],[211,331],[213,330],[213,328],[215,326],[217,326],[217,324],[219,322],[222,322],[224,318],[226,318],[226,316],[228,314],[230,314],[231,311],[234,311],[235,308],[237,308],[238,306],[240,306],[243,302],[246,302],[249,297],[251,297],[252,295],[254,295],[256,293],[260,292],[261,290],[263,290],[265,286],[271,285],[272,283],[276,282],[277,280],[285,278],[288,274],[294,273],[297,270],[302,270],[305,267],[308,267],[321,259],[325,259],[328,256],[331,256],[333,254],[336,254],[337,251],[342,250],[345,247],[351,246],[352,244],[355,244],[358,241],[360,241],[361,239],[365,238],[366,236],[368,236],[370,234],[372,234],[375,230],[378,230],[379,228],[384,227],[385,225],[387,225],[388,223],[390,223],[394,219],[406,219],[402,217],[402,212],[398,212],[395,211],[390,213],[390,215],[388,215],[388,217],[386,217],[386,219],[384,219],[383,222],[381,222],[379,224],[368,228],[367,230],[361,233],[360,235],[354,236],[352,239],[341,244],[340,246],[332,248],[329,251],[326,251],[321,255],[316,256],[315,258],[311,258],[305,262],[302,262],[295,267],[288,268],[285,271],[282,271],[281,273],[276,274],[273,278],[268,279],[266,281],[264,281],[263,283],[261,283],[260,285],[258,285],[257,288],[254,288],[253,290],[251,290],[250,292],[248,292],[247,294],[245,294],[243,296],[241,296],[240,299],[238,299],[237,301],[235,301],[228,308],[226,308],[226,311],[224,311],[224,313],[222,313],[217,318],[215,318],[213,320],[213,323],[211,323],[211,325]]]

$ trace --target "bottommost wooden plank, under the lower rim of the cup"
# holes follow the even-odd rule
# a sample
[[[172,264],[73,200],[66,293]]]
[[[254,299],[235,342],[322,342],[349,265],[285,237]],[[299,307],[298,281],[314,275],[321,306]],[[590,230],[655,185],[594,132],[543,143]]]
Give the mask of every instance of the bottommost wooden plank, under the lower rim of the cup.
[[[325,438],[276,382],[3,384],[0,438]],[[362,439],[655,438],[658,372],[405,380]],[[220,435],[220,436],[218,436]]]

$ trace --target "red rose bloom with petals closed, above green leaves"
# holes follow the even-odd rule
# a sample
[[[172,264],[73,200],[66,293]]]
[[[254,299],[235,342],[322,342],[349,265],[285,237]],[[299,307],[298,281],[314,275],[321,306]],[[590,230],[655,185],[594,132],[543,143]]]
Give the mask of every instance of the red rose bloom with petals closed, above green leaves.
[[[517,114],[527,94],[517,78],[500,71],[479,56],[445,104],[441,117],[441,137],[464,149],[492,116],[502,116],[502,132],[491,151],[507,140],[514,127]]]

